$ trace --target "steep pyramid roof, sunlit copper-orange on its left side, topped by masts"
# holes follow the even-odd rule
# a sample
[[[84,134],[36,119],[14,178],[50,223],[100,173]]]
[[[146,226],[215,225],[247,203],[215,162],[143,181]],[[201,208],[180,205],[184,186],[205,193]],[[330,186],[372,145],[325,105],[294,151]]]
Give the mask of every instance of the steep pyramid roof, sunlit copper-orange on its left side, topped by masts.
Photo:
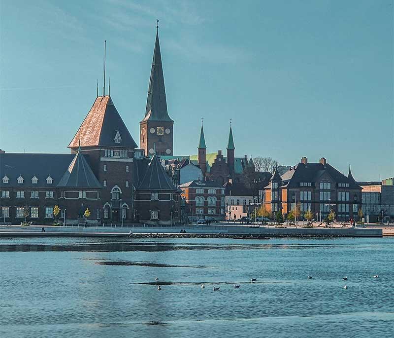
[[[121,142],[115,143],[114,139],[118,132]],[[96,98],[68,148],[78,148],[79,141],[81,141],[81,147],[137,148],[109,95]]]

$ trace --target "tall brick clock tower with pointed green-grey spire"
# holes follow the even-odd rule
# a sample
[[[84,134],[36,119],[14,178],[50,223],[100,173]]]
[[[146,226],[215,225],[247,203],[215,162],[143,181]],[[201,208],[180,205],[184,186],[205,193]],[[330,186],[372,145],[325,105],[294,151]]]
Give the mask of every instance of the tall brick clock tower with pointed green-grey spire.
[[[174,121],[167,112],[162,56],[159,44],[159,26],[156,26],[156,42],[145,117],[139,122],[139,125],[139,147],[145,150],[145,155],[153,155],[155,149],[158,155],[173,154]]]

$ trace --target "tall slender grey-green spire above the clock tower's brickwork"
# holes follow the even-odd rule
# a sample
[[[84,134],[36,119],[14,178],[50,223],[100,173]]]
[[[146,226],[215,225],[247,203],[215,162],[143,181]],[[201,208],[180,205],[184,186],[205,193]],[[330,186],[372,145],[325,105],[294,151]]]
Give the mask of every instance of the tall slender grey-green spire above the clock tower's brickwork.
[[[156,33],[155,50],[153,52],[151,77],[149,79],[148,99],[145,117],[142,121],[172,121],[167,112],[165,98],[162,55],[160,52],[159,33]],[[141,121],[141,122],[142,122]]]

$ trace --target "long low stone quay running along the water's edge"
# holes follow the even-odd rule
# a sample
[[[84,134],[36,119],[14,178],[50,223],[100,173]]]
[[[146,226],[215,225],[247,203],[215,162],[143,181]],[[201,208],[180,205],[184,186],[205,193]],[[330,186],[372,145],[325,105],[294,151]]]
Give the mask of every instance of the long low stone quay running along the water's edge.
[[[42,231],[45,230],[45,232]],[[196,237],[382,237],[382,228],[358,227],[275,227],[263,225],[128,225],[128,226],[0,226],[1,236],[82,236],[82,237],[121,237],[133,234],[195,234]]]

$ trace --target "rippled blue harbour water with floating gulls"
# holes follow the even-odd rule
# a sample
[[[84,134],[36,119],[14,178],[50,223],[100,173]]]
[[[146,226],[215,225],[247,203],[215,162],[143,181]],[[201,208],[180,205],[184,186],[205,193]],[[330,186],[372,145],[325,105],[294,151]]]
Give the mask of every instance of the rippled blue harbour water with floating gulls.
[[[0,336],[388,337],[393,257],[394,238],[1,238]]]

